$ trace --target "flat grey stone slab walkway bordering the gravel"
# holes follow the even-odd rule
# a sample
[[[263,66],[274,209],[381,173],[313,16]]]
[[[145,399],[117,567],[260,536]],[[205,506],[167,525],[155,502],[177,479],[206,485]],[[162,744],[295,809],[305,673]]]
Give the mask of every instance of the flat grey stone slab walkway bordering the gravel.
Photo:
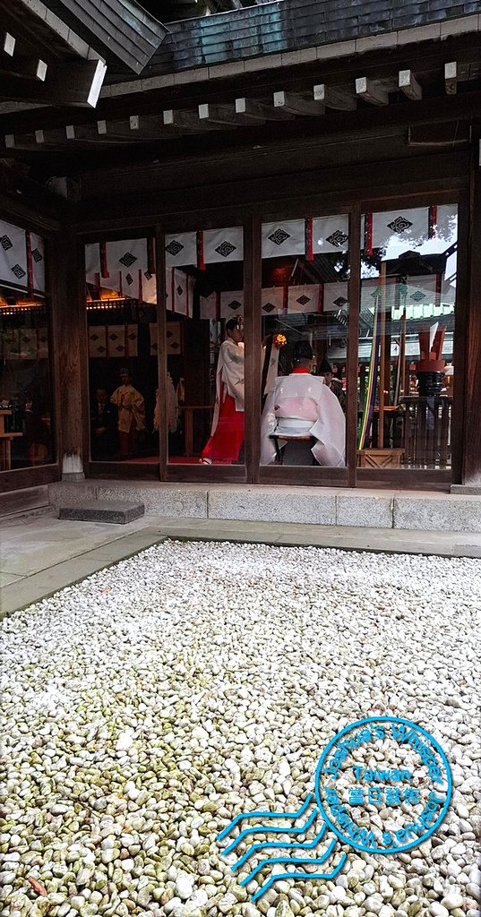
[[[481,558],[481,534],[477,533],[153,515],[129,525],[105,525],[66,522],[51,513],[26,515],[2,524],[0,616],[39,602],[165,538]]]

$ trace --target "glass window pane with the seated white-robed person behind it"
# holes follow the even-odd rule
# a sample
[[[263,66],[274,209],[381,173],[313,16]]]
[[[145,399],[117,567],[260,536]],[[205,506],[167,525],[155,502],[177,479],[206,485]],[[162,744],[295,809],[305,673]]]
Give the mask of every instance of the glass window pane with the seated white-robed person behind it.
[[[349,216],[263,224],[263,465],[345,466]]]

